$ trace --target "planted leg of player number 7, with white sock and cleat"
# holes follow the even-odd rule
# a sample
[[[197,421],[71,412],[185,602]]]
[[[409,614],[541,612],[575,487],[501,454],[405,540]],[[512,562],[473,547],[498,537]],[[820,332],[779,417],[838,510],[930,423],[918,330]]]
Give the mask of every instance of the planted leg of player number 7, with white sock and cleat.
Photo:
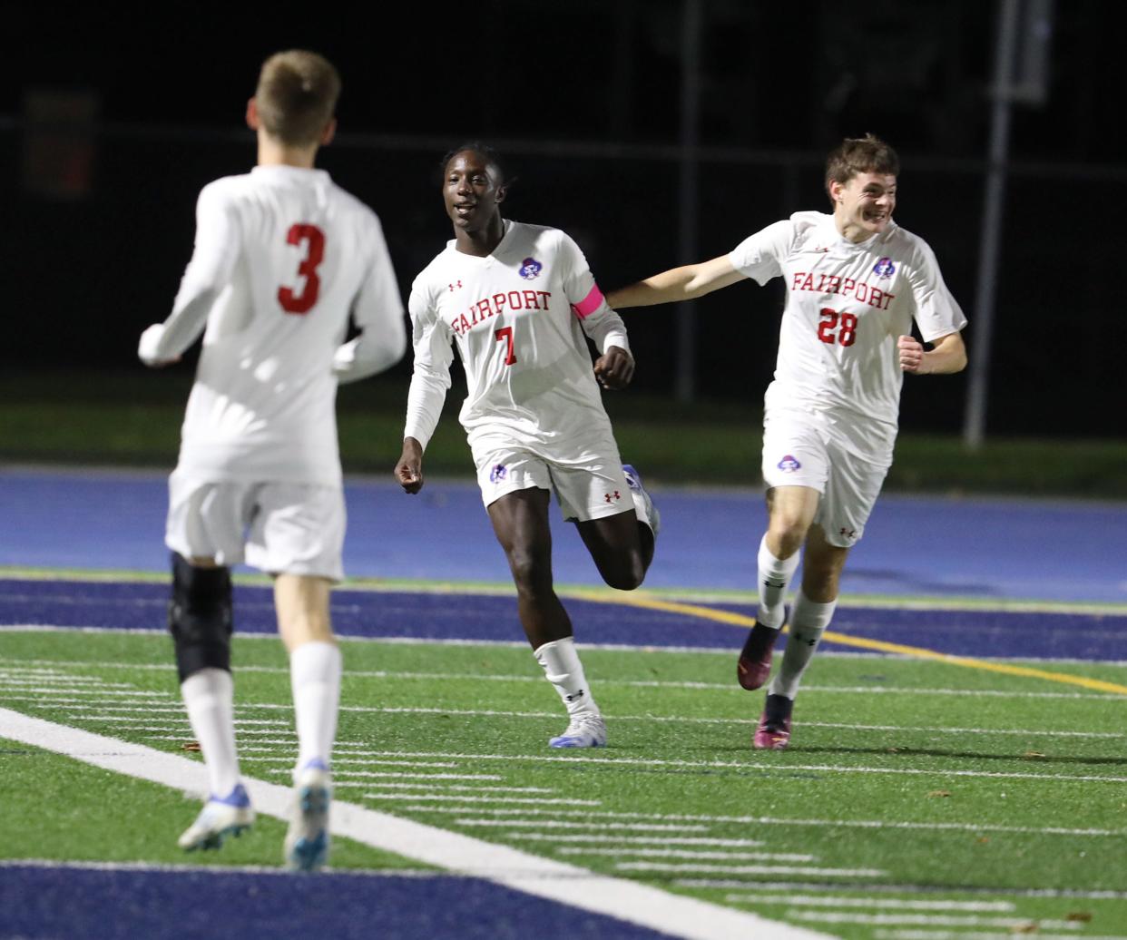
[[[567,730],[549,744],[598,747],[606,743],[606,729],[579,662],[571,621],[552,584],[549,497],[540,487],[507,493],[489,504],[489,520],[513,573],[525,636],[567,709]]]

